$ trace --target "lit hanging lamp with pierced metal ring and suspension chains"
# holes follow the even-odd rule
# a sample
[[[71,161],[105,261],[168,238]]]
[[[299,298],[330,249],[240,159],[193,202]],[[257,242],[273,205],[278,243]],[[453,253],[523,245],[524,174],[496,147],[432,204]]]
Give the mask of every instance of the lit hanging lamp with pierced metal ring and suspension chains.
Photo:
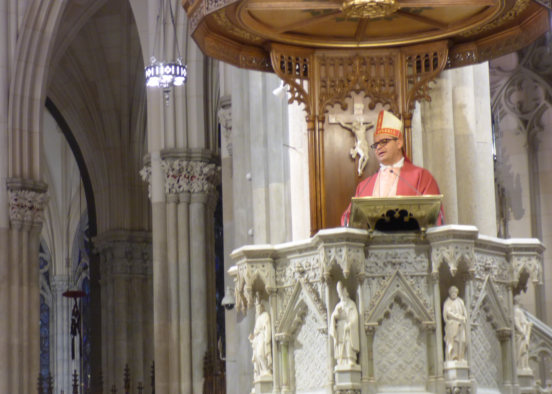
[[[162,23],[162,29],[159,32],[159,41],[161,42],[161,37],[165,37],[165,14],[166,6],[165,2],[169,3],[169,11],[171,12],[171,22],[174,30],[174,42],[176,43],[176,49],[178,52],[177,60],[164,60],[158,61],[155,58],[155,46],[157,44],[157,32],[160,22]],[[161,21],[161,15],[163,19]],[[174,24],[174,14],[172,10],[171,0],[160,0],[159,2],[159,13],[157,14],[157,24],[155,26],[155,39],[153,41],[153,52],[151,55],[150,65],[146,67],[146,86],[162,88],[165,103],[169,105],[169,92],[173,86],[182,86],[186,83],[187,80],[187,68],[186,65],[182,63],[182,56],[180,55],[180,49],[178,47],[178,38],[176,33],[176,25]]]

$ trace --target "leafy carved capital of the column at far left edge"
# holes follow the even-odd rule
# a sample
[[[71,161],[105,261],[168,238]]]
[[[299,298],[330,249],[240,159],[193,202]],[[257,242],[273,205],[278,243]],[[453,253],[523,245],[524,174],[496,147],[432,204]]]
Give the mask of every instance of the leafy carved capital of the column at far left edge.
[[[8,189],[9,219],[22,223],[42,224],[44,222],[44,209],[48,202],[45,192]]]

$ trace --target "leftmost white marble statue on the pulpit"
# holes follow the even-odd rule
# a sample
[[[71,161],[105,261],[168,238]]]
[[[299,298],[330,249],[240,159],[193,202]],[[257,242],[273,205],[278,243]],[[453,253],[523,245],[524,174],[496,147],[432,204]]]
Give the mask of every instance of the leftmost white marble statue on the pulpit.
[[[264,310],[261,298],[257,295],[255,311],[257,319],[253,334],[249,336],[253,347],[253,374],[257,380],[262,376],[272,375],[272,329],[270,328],[270,315]]]

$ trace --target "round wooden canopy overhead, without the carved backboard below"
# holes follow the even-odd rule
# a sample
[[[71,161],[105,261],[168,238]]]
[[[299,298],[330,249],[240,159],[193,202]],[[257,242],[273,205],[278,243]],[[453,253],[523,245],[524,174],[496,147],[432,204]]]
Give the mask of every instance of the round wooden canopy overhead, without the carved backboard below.
[[[183,0],[183,6],[205,54],[263,71],[272,68],[274,42],[330,49],[447,39],[447,67],[457,67],[519,50],[550,24],[550,0]]]

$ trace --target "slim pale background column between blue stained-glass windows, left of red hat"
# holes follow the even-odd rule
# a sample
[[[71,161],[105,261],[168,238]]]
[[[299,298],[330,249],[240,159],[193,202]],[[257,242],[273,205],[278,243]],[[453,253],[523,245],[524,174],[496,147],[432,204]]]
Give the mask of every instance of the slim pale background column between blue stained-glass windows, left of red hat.
[[[71,308],[69,299],[63,297],[63,292],[69,289],[69,276],[55,275],[50,279],[52,289],[52,309],[50,317],[53,320],[50,340],[55,349],[52,359],[52,377],[54,377],[54,391],[70,392],[71,390]]]

